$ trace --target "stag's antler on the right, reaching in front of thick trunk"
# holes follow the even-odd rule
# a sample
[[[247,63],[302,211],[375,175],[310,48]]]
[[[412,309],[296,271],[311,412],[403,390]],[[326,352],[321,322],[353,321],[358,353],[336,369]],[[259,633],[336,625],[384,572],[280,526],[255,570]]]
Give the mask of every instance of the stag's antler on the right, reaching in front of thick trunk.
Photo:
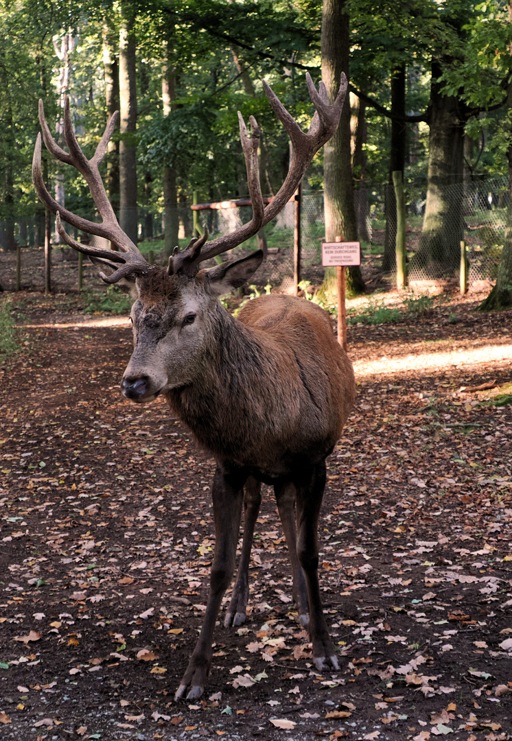
[[[333,104],[330,105],[327,90],[325,89],[325,84],[323,82],[320,82],[318,91],[316,90],[315,84],[313,83],[309,73],[306,73],[306,82],[311,102],[313,102],[315,107],[315,115],[313,116],[313,120],[311,121],[307,133],[304,132],[295,119],[290,116],[290,113],[288,113],[276,94],[273,93],[273,90],[269,85],[267,85],[266,82],[263,82],[263,88],[270,105],[287,130],[293,147],[293,158],[290,169],[288,170],[285,182],[279,188],[276,196],[274,196],[270,203],[264,207],[262,193],[259,187],[257,143],[250,147],[250,144],[255,141],[255,138],[256,141],[259,142],[259,127],[253,119],[253,116],[251,116],[250,123],[253,130],[253,138],[248,139],[247,129],[245,128],[242,115],[239,113],[240,139],[242,141],[242,147],[244,148],[245,161],[247,164],[249,192],[253,203],[253,218],[250,222],[236,231],[219,237],[218,239],[212,239],[211,242],[207,243],[205,250],[201,250],[199,253],[197,252],[196,245],[193,253],[191,245],[189,245],[184,252],[178,253],[174,257],[175,271],[183,270],[186,273],[192,274],[197,270],[199,262],[203,262],[203,260],[210,259],[222,252],[233,249],[233,247],[241,245],[242,242],[245,242],[246,239],[250,239],[250,237],[256,234],[263,226],[265,226],[265,224],[272,221],[279,211],[285,207],[291,196],[293,196],[293,193],[295,193],[299,183],[304,177],[313,156],[315,156],[316,152],[318,152],[325,142],[328,142],[330,137],[333,136],[333,133],[336,131],[348,88],[347,78],[345,77],[345,74],[342,73],[338,94],[336,95]],[[256,137],[255,132],[257,132]]]

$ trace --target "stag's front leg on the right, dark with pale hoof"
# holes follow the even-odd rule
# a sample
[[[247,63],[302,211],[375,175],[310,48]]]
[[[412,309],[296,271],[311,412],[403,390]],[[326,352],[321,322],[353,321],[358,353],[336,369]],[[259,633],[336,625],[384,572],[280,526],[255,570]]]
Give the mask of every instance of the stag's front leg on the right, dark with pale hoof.
[[[325,461],[314,466],[296,482],[297,507],[297,555],[304,569],[309,597],[309,633],[313,644],[313,662],[319,671],[328,662],[338,669],[338,659],[330,640],[327,622],[322,608],[318,578],[318,519],[325,489]]]

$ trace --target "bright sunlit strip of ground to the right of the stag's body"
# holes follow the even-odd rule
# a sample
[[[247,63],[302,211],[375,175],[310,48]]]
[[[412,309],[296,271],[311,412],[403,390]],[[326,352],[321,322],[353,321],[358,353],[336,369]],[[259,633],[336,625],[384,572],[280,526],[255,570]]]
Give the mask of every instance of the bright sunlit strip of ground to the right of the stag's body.
[[[348,352],[350,355],[350,348]],[[503,361],[512,362],[512,345],[484,345],[473,350],[410,354],[405,357],[382,356],[377,360],[356,360],[353,362],[353,369],[356,376],[361,378],[380,373],[390,376],[403,371],[430,373],[447,368]]]

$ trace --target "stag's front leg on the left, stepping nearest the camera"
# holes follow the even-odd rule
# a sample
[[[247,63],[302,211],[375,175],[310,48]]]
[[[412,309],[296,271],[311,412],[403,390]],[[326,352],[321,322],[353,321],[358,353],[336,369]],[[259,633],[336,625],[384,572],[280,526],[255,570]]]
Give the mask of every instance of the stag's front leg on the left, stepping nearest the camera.
[[[205,690],[212,662],[213,630],[225,591],[235,568],[236,542],[242,514],[242,496],[245,478],[240,471],[225,471],[217,466],[213,477],[212,499],[215,522],[215,554],[210,571],[210,594],[205,619],[196,648],[188,662],[187,671],[176,691],[175,699],[187,694],[187,700],[197,700]]]

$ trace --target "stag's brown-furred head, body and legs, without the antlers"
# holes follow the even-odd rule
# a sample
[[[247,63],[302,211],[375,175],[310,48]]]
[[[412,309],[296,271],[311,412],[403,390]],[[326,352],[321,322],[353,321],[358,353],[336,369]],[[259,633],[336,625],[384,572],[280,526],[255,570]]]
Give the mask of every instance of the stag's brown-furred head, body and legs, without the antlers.
[[[246,486],[249,491],[251,501],[246,505],[252,505],[255,519],[261,482],[274,487],[291,551],[299,611],[305,610],[301,594],[305,577],[313,659],[319,668],[326,661],[337,666],[320,601],[316,531],[325,459],[339,439],[355,396],[353,371],[328,316],[304,299],[262,296],[249,302],[239,319],[225,310],[219,294],[245,282],[261,259],[261,253],[253,253],[194,277],[148,273],[136,282],[135,348],[124,373],[123,392],[137,402],[163,393],[217,462],[210,597],[202,634],[177,697],[202,694],[213,628],[235,565],[243,490]],[[294,501],[297,538],[290,518]],[[252,534],[250,526],[249,531]],[[243,578],[239,574],[239,592]],[[228,614],[245,612],[244,600],[242,595],[242,607],[233,604]]]

